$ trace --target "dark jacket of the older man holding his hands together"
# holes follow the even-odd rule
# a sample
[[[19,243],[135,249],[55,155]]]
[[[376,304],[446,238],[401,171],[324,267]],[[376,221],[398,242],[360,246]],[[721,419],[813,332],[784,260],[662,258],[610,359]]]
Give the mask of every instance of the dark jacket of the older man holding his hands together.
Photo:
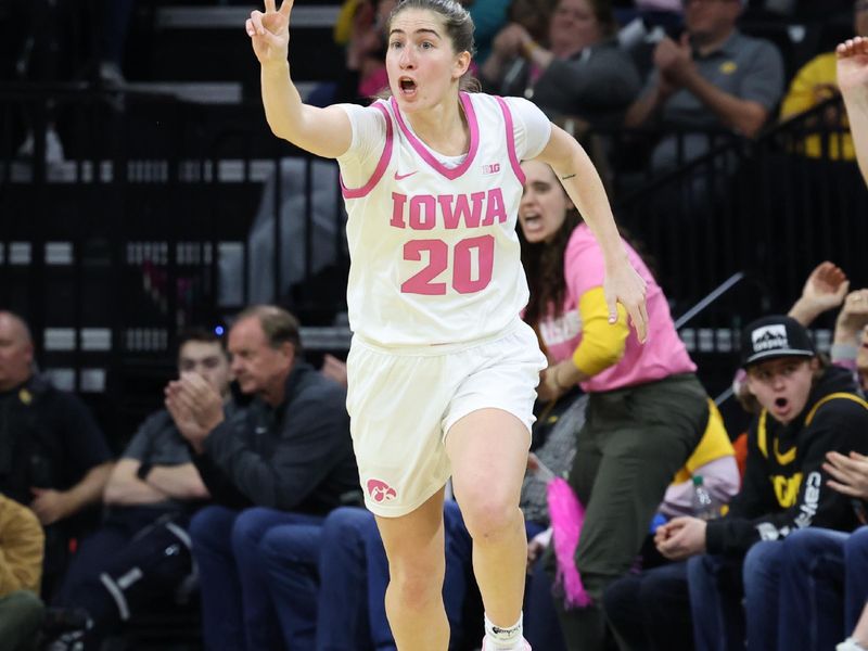
[[[346,392],[298,361],[283,403],[227,413],[193,462],[218,503],[327,513],[359,490]]]

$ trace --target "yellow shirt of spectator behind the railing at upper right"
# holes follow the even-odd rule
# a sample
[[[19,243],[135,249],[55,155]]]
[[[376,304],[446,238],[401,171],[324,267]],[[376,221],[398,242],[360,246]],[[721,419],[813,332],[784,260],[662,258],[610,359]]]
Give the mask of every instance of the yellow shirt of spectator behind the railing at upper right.
[[[802,66],[783,98],[780,107],[780,117],[786,119],[804,113],[832,97],[838,92],[834,52],[827,52],[812,59]],[[819,116],[821,119],[821,116]],[[844,110],[841,108],[841,127],[848,129]],[[822,155],[822,139],[820,136],[807,136],[804,141],[805,155],[819,158]],[[853,138],[847,133],[829,133],[829,157],[832,161],[843,158],[855,161],[856,152],[853,149]]]

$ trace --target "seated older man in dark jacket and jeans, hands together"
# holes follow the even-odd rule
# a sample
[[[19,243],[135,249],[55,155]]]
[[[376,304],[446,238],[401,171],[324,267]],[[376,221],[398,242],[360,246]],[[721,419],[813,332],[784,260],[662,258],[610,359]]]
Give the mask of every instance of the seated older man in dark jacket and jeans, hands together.
[[[229,352],[253,398],[246,409],[227,418],[219,393],[196,375],[169,383],[166,406],[220,505],[190,524],[205,647],[258,651],[280,648],[263,537],[279,524],[320,523],[357,494],[358,471],[346,393],[304,361],[295,317],[275,306],[245,309]]]

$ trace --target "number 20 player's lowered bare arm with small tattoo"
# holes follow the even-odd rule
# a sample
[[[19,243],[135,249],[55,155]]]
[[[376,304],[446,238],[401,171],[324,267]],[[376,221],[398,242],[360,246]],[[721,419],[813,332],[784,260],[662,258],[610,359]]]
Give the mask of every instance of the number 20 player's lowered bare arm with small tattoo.
[[[630,315],[639,341],[643,342],[648,329],[646,283],[629,263],[627,248],[617,232],[609,197],[593,163],[582,145],[557,125],[552,125],[549,141],[537,159],[548,163],[558,175],[566,194],[600,244],[605,259],[603,290],[610,323],[617,321],[616,303],[620,302]]]

